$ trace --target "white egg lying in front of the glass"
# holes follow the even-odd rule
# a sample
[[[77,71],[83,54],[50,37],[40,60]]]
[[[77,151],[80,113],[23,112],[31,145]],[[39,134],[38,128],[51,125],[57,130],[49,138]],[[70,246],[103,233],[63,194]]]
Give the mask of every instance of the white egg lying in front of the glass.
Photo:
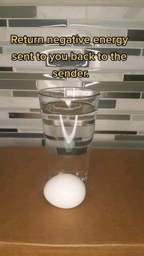
[[[59,174],[45,185],[44,196],[49,203],[59,208],[77,207],[85,198],[85,185],[72,174]]]

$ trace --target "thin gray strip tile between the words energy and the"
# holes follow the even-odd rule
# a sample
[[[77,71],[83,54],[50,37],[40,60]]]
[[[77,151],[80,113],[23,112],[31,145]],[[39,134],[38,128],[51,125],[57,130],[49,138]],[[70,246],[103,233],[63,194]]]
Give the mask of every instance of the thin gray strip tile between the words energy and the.
[[[85,48],[85,53],[88,53],[89,51],[92,51],[95,54],[100,52],[102,54],[106,53],[108,55],[110,53],[117,51],[117,53],[120,53],[120,54],[125,53],[131,56],[138,56],[141,53],[141,49],[132,49],[132,48]]]

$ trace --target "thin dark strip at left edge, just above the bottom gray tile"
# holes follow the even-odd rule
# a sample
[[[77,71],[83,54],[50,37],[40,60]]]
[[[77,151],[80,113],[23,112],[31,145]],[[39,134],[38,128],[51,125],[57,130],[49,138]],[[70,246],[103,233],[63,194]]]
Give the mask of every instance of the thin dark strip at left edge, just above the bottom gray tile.
[[[0,137],[43,138],[43,133],[0,133]]]

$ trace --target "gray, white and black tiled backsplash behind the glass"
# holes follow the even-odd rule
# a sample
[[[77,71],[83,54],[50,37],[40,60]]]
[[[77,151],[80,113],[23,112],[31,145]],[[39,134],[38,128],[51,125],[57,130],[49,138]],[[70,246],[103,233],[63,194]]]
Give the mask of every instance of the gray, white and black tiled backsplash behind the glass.
[[[144,4],[143,4],[144,5]],[[16,45],[10,35],[79,34],[129,37],[126,46]],[[126,53],[124,62],[84,62],[89,78],[54,79],[52,70],[77,67],[74,62],[11,60],[12,53]],[[101,92],[93,147],[144,148],[144,6],[0,6],[0,146],[41,146],[43,130],[37,90],[82,86]]]

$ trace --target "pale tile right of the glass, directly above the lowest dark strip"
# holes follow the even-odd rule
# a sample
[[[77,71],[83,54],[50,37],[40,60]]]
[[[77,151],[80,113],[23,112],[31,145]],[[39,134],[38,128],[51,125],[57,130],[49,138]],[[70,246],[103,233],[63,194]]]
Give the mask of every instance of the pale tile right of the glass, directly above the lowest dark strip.
[[[143,131],[144,121],[123,121],[123,120],[97,120],[96,131]]]

